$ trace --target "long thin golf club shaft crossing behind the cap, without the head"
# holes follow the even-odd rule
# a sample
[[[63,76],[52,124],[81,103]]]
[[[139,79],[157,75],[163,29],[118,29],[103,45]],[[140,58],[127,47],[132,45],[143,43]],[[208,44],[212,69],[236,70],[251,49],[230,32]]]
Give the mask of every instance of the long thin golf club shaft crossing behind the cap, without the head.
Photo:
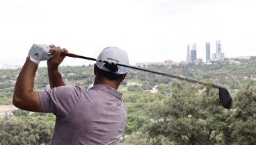
[[[210,83],[204,83],[204,82],[201,82],[201,81],[198,81],[198,80],[193,80],[193,79],[189,79],[189,78],[182,78],[180,76],[174,76],[174,75],[170,75],[170,74],[164,74],[164,73],[161,73],[161,72],[157,72],[157,71],[151,71],[151,70],[147,70],[147,69],[141,69],[139,67],[131,67],[129,65],[122,65],[122,64],[119,64],[119,63],[115,63],[115,62],[109,62],[109,61],[106,61],[106,60],[98,60],[98,59],[95,59],[95,58],[88,58],[88,57],[85,57],[85,56],[78,56],[76,54],[72,54],[72,53],[65,53],[65,52],[61,52],[61,56],[69,56],[69,57],[72,57],[72,58],[82,58],[82,59],[86,59],[86,60],[93,60],[93,61],[97,61],[97,62],[105,62],[105,63],[113,63],[115,65],[119,65],[119,66],[122,66],[122,67],[128,67],[128,68],[131,68],[131,69],[138,69],[138,70],[141,70],[141,71],[147,71],[147,72],[150,72],[150,73],[154,73],[154,74],[160,74],[162,76],[169,76],[169,77],[172,77],[172,78],[178,78],[179,80],[186,80],[186,81],[190,81],[190,82],[193,82],[193,83],[199,83],[201,85],[211,85],[212,87],[216,87],[216,88],[224,88],[223,86],[221,85],[215,85],[215,84],[210,84]]]

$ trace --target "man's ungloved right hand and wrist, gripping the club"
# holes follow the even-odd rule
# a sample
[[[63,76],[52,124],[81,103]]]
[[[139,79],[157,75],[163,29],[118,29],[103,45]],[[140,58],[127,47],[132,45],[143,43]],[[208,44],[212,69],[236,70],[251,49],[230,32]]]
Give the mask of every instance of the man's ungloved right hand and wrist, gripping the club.
[[[58,70],[58,66],[63,62],[65,56],[61,56],[61,51],[68,53],[67,49],[61,49],[61,47],[56,47],[54,45],[50,45],[51,49],[49,53],[54,54],[55,58],[52,58],[50,60],[47,60],[47,66],[48,66],[48,71],[49,69],[51,71],[56,71]]]

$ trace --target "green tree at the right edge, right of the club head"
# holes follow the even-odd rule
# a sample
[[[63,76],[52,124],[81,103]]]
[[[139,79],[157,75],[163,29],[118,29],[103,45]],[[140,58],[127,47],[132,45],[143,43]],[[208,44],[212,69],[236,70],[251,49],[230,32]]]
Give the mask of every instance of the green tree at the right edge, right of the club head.
[[[255,144],[256,142],[256,89],[251,80],[241,91],[237,92],[236,111],[232,115],[232,140],[234,144]],[[231,135],[230,135],[231,136]]]

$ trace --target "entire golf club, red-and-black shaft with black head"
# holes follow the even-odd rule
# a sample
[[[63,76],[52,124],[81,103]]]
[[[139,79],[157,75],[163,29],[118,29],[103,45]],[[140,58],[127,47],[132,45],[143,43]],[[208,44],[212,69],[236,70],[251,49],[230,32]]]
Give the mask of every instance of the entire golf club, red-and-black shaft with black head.
[[[86,60],[104,62],[104,63],[113,64],[113,65],[119,65],[119,66],[122,66],[122,67],[128,67],[128,68],[131,68],[131,69],[138,69],[138,70],[141,70],[141,71],[147,71],[147,72],[154,73],[154,74],[160,74],[162,76],[169,76],[169,77],[172,77],[172,78],[178,78],[180,80],[186,80],[186,81],[193,82],[193,83],[199,83],[201,85],[211,85],[212,87],[218,88],[218,90],[219,90],[218,94],[219,94],[219,97],[220,97],[221,105],[223,105],[224,108],[230,109],[230,108],[232,108],[232,105],[233,105],[232,94],[230,93],[230,91],[226,87],[223,87],[221,85],[204,83],[204,82],[201,82],[201,81],[198,81],[198,80],[193,80],[193,79],[189,79],[189,78],[182,78],[180,76],[174,76],[174,75],[170,75],[170,74],[163,74],[163,73],[157,72],[157,71],[150,71],[150,70],[141,69],[141,68],[138,68],[138,67],[131,67],[129,65],[122,65],[122,64],[119,64],[119,63],[109,62],[109,61],[106,61],[106,60],[99,60],[99,59],[95,59],[95,58],[88,58],[88,57],[85,57],[85,56],[78,56],[78,55],[72,54],[72,53],[61,52],[61,56],[69,56],[69,57],[72,57],[72,58],[82,58],[82,59],[86,59]]]

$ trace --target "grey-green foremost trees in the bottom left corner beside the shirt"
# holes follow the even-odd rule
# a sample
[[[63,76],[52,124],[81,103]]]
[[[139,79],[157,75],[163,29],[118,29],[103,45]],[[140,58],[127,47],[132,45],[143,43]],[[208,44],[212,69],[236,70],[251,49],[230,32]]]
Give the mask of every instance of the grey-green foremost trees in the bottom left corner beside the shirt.
[[[53,126],[43,121],[0,121],[0,144],[49,144]]]

